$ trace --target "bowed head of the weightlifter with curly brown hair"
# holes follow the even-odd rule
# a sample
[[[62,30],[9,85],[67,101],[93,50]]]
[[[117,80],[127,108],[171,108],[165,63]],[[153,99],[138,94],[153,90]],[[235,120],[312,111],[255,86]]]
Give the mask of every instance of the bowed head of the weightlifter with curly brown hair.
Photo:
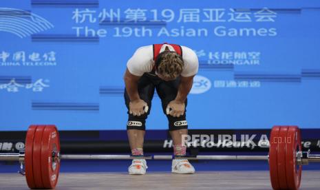
[[[180,76],[184,66],[182,56],[168,48],[158,55],[155,64],[157,75],[164,81],[171,81]]]

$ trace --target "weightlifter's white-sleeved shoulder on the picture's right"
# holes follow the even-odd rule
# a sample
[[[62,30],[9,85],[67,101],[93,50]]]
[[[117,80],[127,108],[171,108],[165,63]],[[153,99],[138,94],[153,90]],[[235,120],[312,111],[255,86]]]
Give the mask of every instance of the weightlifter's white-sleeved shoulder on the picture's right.
[[[182,47],[182,59],[184,61],[184,69],[182,70],[181,76],[193,76],[198,73],[199,61],[198,56],[189,47]]]

